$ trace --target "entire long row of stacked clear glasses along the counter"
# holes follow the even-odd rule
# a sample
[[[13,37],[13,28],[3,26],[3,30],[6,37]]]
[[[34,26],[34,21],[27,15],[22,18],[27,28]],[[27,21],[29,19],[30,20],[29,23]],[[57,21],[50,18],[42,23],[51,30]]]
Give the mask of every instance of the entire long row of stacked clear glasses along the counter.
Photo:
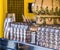
[[[26,23],[12,23],[10,40],[31,43],[42,47],[60,49],[60,29],[52,26],[40,26],[37,31],[30,31]]]

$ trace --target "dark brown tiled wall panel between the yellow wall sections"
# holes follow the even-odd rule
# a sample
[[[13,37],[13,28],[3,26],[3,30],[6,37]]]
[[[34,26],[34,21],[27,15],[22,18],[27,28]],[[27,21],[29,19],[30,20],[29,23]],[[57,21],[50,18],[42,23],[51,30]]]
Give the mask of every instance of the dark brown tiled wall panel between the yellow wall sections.
[[[22,14],[24,14],[24,0],[8,0],[7,1],[8,13],[16,14],[16,21],[22,21]]]

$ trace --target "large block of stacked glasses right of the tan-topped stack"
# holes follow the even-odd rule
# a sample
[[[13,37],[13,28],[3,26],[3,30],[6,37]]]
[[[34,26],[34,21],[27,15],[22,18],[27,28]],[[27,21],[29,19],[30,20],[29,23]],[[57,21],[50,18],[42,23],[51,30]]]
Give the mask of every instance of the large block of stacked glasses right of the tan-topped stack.
[[[37,31],[37,45],[59,49],[60,30],[53,27],[39,27]]]

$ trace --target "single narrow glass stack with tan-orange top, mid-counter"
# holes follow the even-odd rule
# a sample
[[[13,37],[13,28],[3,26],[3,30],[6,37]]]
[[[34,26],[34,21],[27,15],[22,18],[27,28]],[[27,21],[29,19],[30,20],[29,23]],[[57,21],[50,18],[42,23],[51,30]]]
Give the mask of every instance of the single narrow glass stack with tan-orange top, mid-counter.
[[[30,27],[30,43],[36,45],[37,43],[37,26]]]

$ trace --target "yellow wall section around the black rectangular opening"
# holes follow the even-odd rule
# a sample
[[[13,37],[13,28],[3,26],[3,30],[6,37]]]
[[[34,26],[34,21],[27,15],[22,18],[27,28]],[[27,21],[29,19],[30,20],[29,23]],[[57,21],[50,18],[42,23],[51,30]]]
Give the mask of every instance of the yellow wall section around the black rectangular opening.
[[[25,18],[29,17],[30,19],[34,18],[34,14],[33,13],[28,13],[28,3],[33,3],[34,0],[24,0],[24,15]]]

